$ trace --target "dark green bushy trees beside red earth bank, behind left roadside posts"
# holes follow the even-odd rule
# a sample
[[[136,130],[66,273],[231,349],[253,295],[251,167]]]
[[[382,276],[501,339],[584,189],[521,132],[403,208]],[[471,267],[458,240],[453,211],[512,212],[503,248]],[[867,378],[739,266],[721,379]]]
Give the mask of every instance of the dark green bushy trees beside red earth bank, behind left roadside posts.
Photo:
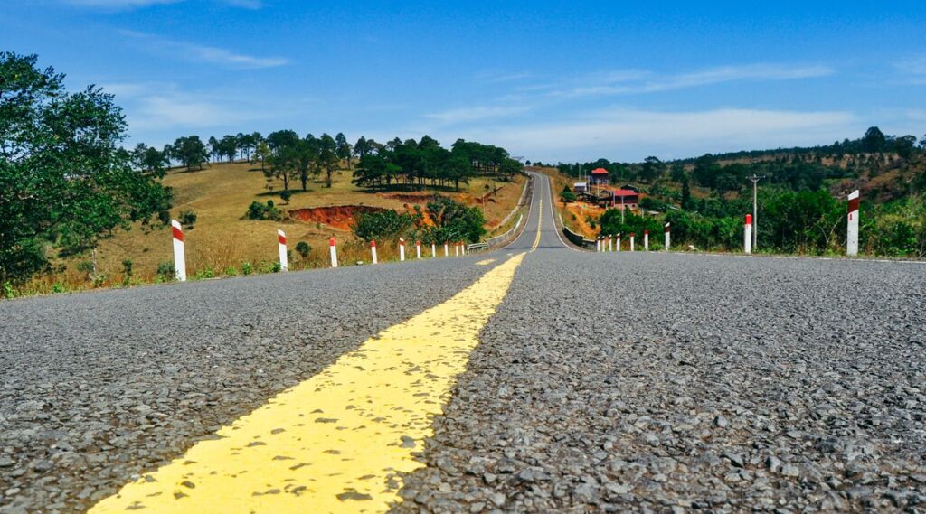
[[[427,214],[427,215],[425,215]],[[426,220],[430,219],[429,224]],[[391,240],[400,237],[425,243],[452,241],[478,242],[485,234],[485,218],[478,207],[469,207],[453,199],[435,196],[425,210],[416,206],[412,213],[392,210],[360,214],[354,223],[359,239]]]

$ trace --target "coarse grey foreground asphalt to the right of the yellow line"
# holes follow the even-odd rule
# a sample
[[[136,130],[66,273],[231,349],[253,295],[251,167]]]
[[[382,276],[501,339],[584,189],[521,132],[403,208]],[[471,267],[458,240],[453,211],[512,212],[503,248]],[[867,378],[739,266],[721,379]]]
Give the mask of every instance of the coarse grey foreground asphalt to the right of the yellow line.
[[[396,512],[926,512],[926,265],[528,256]]]

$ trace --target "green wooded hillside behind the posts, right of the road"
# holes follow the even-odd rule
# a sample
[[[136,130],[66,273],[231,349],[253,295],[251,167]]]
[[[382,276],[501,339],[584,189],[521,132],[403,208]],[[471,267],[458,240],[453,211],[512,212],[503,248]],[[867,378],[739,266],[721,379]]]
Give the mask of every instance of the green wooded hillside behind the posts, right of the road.
[[[605,167],[614,183],[643,191],[641,210],[626,215],[563,207],[564,221],[586,237],[661,232],[706,250],[742,249],[743,218],[758,188],[758,248],[801,254],[845,252],[845,195],[861,190],[860,251],[895,257],[926,256],[926,137],[885,136],[870,128],[855,141],[811,148],[703,155],[662,162],[557,165],[574,181]],[[535,163],[536,164],[536,163]],[[566,180],[561,180],[563,187]]]

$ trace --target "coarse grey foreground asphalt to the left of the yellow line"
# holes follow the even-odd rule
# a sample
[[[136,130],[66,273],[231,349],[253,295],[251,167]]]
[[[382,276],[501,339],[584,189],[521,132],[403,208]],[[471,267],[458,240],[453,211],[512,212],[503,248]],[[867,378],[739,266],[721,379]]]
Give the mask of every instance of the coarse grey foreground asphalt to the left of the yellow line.
[[[0,302],[0,512],[89,508],[469,286],[471,262]]]

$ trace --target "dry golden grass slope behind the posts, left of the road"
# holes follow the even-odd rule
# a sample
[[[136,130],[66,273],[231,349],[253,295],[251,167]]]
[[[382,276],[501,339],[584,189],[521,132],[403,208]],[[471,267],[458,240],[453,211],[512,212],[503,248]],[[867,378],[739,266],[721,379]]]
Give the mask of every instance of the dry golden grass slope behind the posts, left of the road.
[[[188,275],[204,278],[269,271],[277,261],[278,228],[286,232],[291,250],[299,241],[306,241],[312,249],[306,259],[294,252],[291,269],[328,265],[328,239],[332,237],[338,241],[342,264],[369,262],[369,251],[366,245],[354,240],[349,228],[352,220],[345,212],[349,212],[351,206],[402,211],[418,203],[423,208],[435,192],[469,205],[479,205],[486,218],[486,228],[491,231],[515,207],[524,184],[524,177],[517,177],[514,182],[478,177],[469,185],[461,185],[459,191],[428,188],[374,192],[357,188],[351,184],[351,178],[351,172],[343,170],[333,177],[332,188],[326,188],[319,177],[308,183],[306,191],[301,190],[296,181],[291,183],[294,194],[286,204],[280,199],[281,183],[274,181],[273,190],[268,190],[268,181],[259,166],[233,163],[206,165],[203,170],[192,172],[172,170],[164,178],[164,183],[174,192],[170,214],[179,218],[182,211],[193,210],[197,216],[194,227],[184,230]],[[347,207],[317,209],[309,216],[317,221],[293,220],[288,215],[282,222],[244,219],[251,202],[268,200],[284,214],[296,209]],[[381,260],[394,258],[395,244],[395,241],[377,242]],[[123,271],[123,261],[127,259],[132,264],[131,278]],[[56,260],[56,273],[34,278],[22,292],[89,288],[92,285],[87,270],[93,260],[91,253]],[[172,262],[169,227],[145,230],[136,225],[129,231],[119,230],[99,245],[95,260],[97,274],[103,276],[97,287],[156,281],[157,265]]]

